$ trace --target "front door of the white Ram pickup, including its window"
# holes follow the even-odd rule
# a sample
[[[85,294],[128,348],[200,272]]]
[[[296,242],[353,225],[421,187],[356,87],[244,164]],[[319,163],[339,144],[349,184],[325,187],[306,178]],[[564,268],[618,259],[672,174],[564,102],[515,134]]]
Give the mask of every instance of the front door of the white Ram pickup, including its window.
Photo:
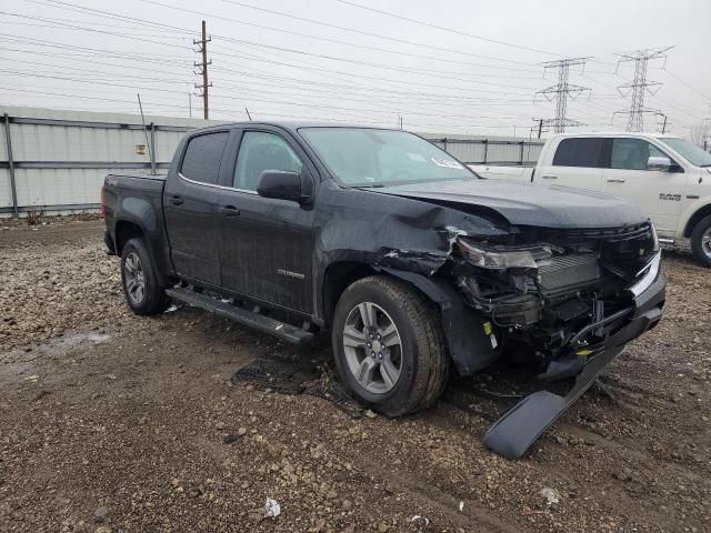
[[[640,204],[661,237],[673,238],[684,198],[684,170],[661,147],[644,139],[610,139],[610,164],[603,171],[603,192]],[[650,157],[669,158],[669,171],[648,170]]]

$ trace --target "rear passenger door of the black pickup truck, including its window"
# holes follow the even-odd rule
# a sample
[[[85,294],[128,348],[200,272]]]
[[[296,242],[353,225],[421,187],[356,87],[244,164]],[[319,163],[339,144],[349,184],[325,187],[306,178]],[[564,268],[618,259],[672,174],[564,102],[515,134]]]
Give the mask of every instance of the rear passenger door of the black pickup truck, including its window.
[[[163,191],[176,271],[213,285],[220,283],[218,182],[229,134],[214,131],[190,138],[177,172],[168,177]]]

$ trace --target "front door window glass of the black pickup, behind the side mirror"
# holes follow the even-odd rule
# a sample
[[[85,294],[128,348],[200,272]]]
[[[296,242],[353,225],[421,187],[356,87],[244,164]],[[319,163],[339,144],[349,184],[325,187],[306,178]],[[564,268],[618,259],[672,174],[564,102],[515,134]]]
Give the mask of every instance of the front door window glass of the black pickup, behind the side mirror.
[[[256,191],[264,170],[301,172],[301,160],[281,137],[262,131],[247,131],[237,155],[236,189]]]

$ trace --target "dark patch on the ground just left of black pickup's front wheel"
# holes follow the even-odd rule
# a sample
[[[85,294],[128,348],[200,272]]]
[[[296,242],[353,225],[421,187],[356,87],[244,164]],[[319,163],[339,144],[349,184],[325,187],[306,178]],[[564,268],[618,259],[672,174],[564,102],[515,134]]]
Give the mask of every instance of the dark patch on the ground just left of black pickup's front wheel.
[[[329,363],[320,354],[316,358],[300,356],[278,348],[238,370],[231,381],[236,385],[248,384],[264,392],[322,398],[349,416],[360,419],[363,408],[346,392]]]

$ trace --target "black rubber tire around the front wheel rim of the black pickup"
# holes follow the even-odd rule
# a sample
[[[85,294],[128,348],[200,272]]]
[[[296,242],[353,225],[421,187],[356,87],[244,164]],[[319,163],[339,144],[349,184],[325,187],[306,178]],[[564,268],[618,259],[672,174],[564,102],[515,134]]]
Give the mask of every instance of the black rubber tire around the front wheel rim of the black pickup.
[[[347,320],[364,302],[372,302],[387,313],[385,320],[392,321],[402,341],[398,349],[399,378],[391,390],[382,393],[373,393],[359,383],[349,368],[343,346]],[[336,366],[349,393],[387,416],[432,406],[449,381],[450,361],[439,308],[400,280],[375,275],[346,289],[336,306],[331,339]]]

